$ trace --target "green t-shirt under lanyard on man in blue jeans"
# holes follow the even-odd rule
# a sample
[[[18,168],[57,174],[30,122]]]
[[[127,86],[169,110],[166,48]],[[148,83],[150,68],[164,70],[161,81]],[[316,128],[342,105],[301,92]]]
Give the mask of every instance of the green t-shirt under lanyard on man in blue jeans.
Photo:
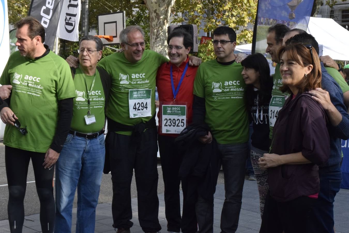
[[[96,79],[94,86],[91,90],[92,82],[95,77],[85,75],[86,83],[82,75],[82,70],[80,68],[76,69],[74,76],[74,86],[77,97],[74,98],[73,105],[73,118],[70,128],[74,131],[81,133],[95,133],[103,129],[104,126],[104,105],[105,105],[105,95],[102,86],[101,77],[96,69]],[[85,116],[88,111],[88,98],[90,99],[90,114],[95,116],[96,123],[86,124]]]

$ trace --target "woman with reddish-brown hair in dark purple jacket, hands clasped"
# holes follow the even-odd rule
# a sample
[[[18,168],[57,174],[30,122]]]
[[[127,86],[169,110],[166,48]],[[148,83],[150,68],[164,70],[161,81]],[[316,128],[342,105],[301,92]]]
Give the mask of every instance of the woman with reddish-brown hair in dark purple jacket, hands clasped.
[[[290,97],[279,111],[270,154],[259,159],[269,173],[260,232],[305,233],[320,190],[318,165],[329,156],[326,112],[307,93],[321,87],[320,61],[309,44],[287,45],[278,55],[281,90]]]

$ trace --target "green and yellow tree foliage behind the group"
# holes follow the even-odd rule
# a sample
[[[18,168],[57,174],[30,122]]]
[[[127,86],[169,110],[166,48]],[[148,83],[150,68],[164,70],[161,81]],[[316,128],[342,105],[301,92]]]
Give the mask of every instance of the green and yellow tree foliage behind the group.
[[[315,9],[318,10],[321,5],[320,1],[322,3],[322,0],[314,1],[314,11]],[[333,6],[337,1],[345,0],[327,0],[326,4]],[[199,29],[203,29],[205,32],[213,31],[219,26],[229,26],[236,30],[238,44],[251,43],[251,24],[253,25],[255,19],[257,2],[257,0],[176,0],[175,5],[171,9],[172,15],[175,16],[172,23],[182,23],[188,20],[188,23],[197,24]],[[30,0],[8,1],[9,23],[14,24],[22,17],[27,16],[29,7]],[[126,26],[139,25],[143,28],[146,34],[144,38],[146,49],[149,49],[149,13],[143,0],[89,0],[89,25],[97,27],[97,16],[100,14],[121,10],[125,10],[126,13]],[[185,14],[183,17],[178,17],[176,13]],[[248,23],[251,23],[249,27]],[[70,54],[76,56],[76,51],[79,47],[78,43],[63,41],[61,40],[61,56],[64,58]],[[107,56],[113,52],[113,50],[106,48],[103,51],[103,56]],[[199,45],[197,56],[205,61],[214,58],[212,44]]]

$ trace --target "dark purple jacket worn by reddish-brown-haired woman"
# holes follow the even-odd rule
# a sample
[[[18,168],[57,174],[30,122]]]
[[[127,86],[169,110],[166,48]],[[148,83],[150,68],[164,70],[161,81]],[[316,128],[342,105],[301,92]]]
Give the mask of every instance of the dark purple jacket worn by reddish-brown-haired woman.
[[[271,153],[283,155],[301,151],[312,163],[268,169],[270,195],[276,201],[287,202],[319,192],[318,165],[326,162],[330,153],[326,125],[325,110],[309,93],[286,100],[274,126]]]

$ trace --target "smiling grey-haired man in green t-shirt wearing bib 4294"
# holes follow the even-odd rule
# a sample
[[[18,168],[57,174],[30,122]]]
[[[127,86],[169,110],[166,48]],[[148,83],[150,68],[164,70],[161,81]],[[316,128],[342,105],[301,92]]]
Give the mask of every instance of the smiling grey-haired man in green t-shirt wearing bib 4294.
[[[113,183],[113,227],[128,233],[132,227],[131,182],[135,171],[138,218],[144,232],[158,232],[157,129],[155,121],[155,78],[158,67],[169,61],[145,50],[144,32],[128,26],[120,32],[121,53],[103,58],[98,66],[111,77],[106,105],[108,133],[106,153],[110,157]],[[191,60],[193,58],[191,57]],[[194,63],[201,59],[194,58]],[[67,59],[76,66],[76,59]]]

